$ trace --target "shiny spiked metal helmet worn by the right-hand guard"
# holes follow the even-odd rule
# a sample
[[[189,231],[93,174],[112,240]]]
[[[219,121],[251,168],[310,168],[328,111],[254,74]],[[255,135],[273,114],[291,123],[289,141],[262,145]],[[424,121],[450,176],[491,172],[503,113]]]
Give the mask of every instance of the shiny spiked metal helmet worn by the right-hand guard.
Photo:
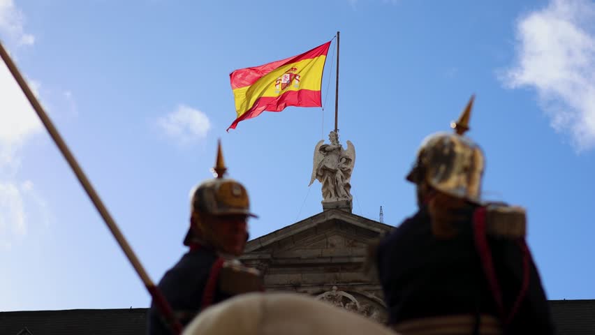
[[[475,96],[471,96],[461,116],[450,126],[455,133],[434,133],[423,140],[416,163],[406,179],[414,184],[427,183],[437,191],[471,202],[480,202],[481,178],[485,158],[478,144],[464,133]]]

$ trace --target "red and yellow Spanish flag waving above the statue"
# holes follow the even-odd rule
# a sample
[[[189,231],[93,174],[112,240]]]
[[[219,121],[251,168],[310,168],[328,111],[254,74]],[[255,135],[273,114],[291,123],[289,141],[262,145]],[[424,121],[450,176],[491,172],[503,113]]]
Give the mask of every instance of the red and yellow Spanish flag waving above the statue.
[[[322,75],[329,47],[330,41],[298,56],[233,71],[229,76],[237,119],[227,130],[265,110],[321,107]]]

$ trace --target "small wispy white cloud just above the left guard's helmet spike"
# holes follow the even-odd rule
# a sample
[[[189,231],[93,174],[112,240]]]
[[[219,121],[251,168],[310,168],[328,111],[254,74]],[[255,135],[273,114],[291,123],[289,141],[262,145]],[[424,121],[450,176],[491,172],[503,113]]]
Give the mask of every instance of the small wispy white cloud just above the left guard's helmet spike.
[[[169,137],[186,144],[205,138],[211,129],[211,121],[200,110],[179,105],[174,112],[157,119],[157,126]]]

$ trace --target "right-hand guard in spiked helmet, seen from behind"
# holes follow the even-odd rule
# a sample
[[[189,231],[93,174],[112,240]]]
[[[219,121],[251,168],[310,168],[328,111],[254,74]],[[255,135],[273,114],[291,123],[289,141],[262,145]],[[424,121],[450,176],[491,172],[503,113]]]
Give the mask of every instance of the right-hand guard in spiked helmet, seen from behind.
[[[484,154],[464,136],[472,106],[455,133],[422,142],[406,176],[418,212],[374,250],[388,322],[404,335],[554,334],[524,209],[480,199]]]

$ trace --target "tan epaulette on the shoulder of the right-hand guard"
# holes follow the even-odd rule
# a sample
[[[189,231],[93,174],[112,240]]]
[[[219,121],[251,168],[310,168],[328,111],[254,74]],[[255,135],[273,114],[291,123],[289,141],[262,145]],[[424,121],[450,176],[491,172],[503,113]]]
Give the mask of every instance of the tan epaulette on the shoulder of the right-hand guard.
[[[527,234],[527,214],[519,206],[488,204],[485,206],[487,234],[495,237],[517,238]]]

